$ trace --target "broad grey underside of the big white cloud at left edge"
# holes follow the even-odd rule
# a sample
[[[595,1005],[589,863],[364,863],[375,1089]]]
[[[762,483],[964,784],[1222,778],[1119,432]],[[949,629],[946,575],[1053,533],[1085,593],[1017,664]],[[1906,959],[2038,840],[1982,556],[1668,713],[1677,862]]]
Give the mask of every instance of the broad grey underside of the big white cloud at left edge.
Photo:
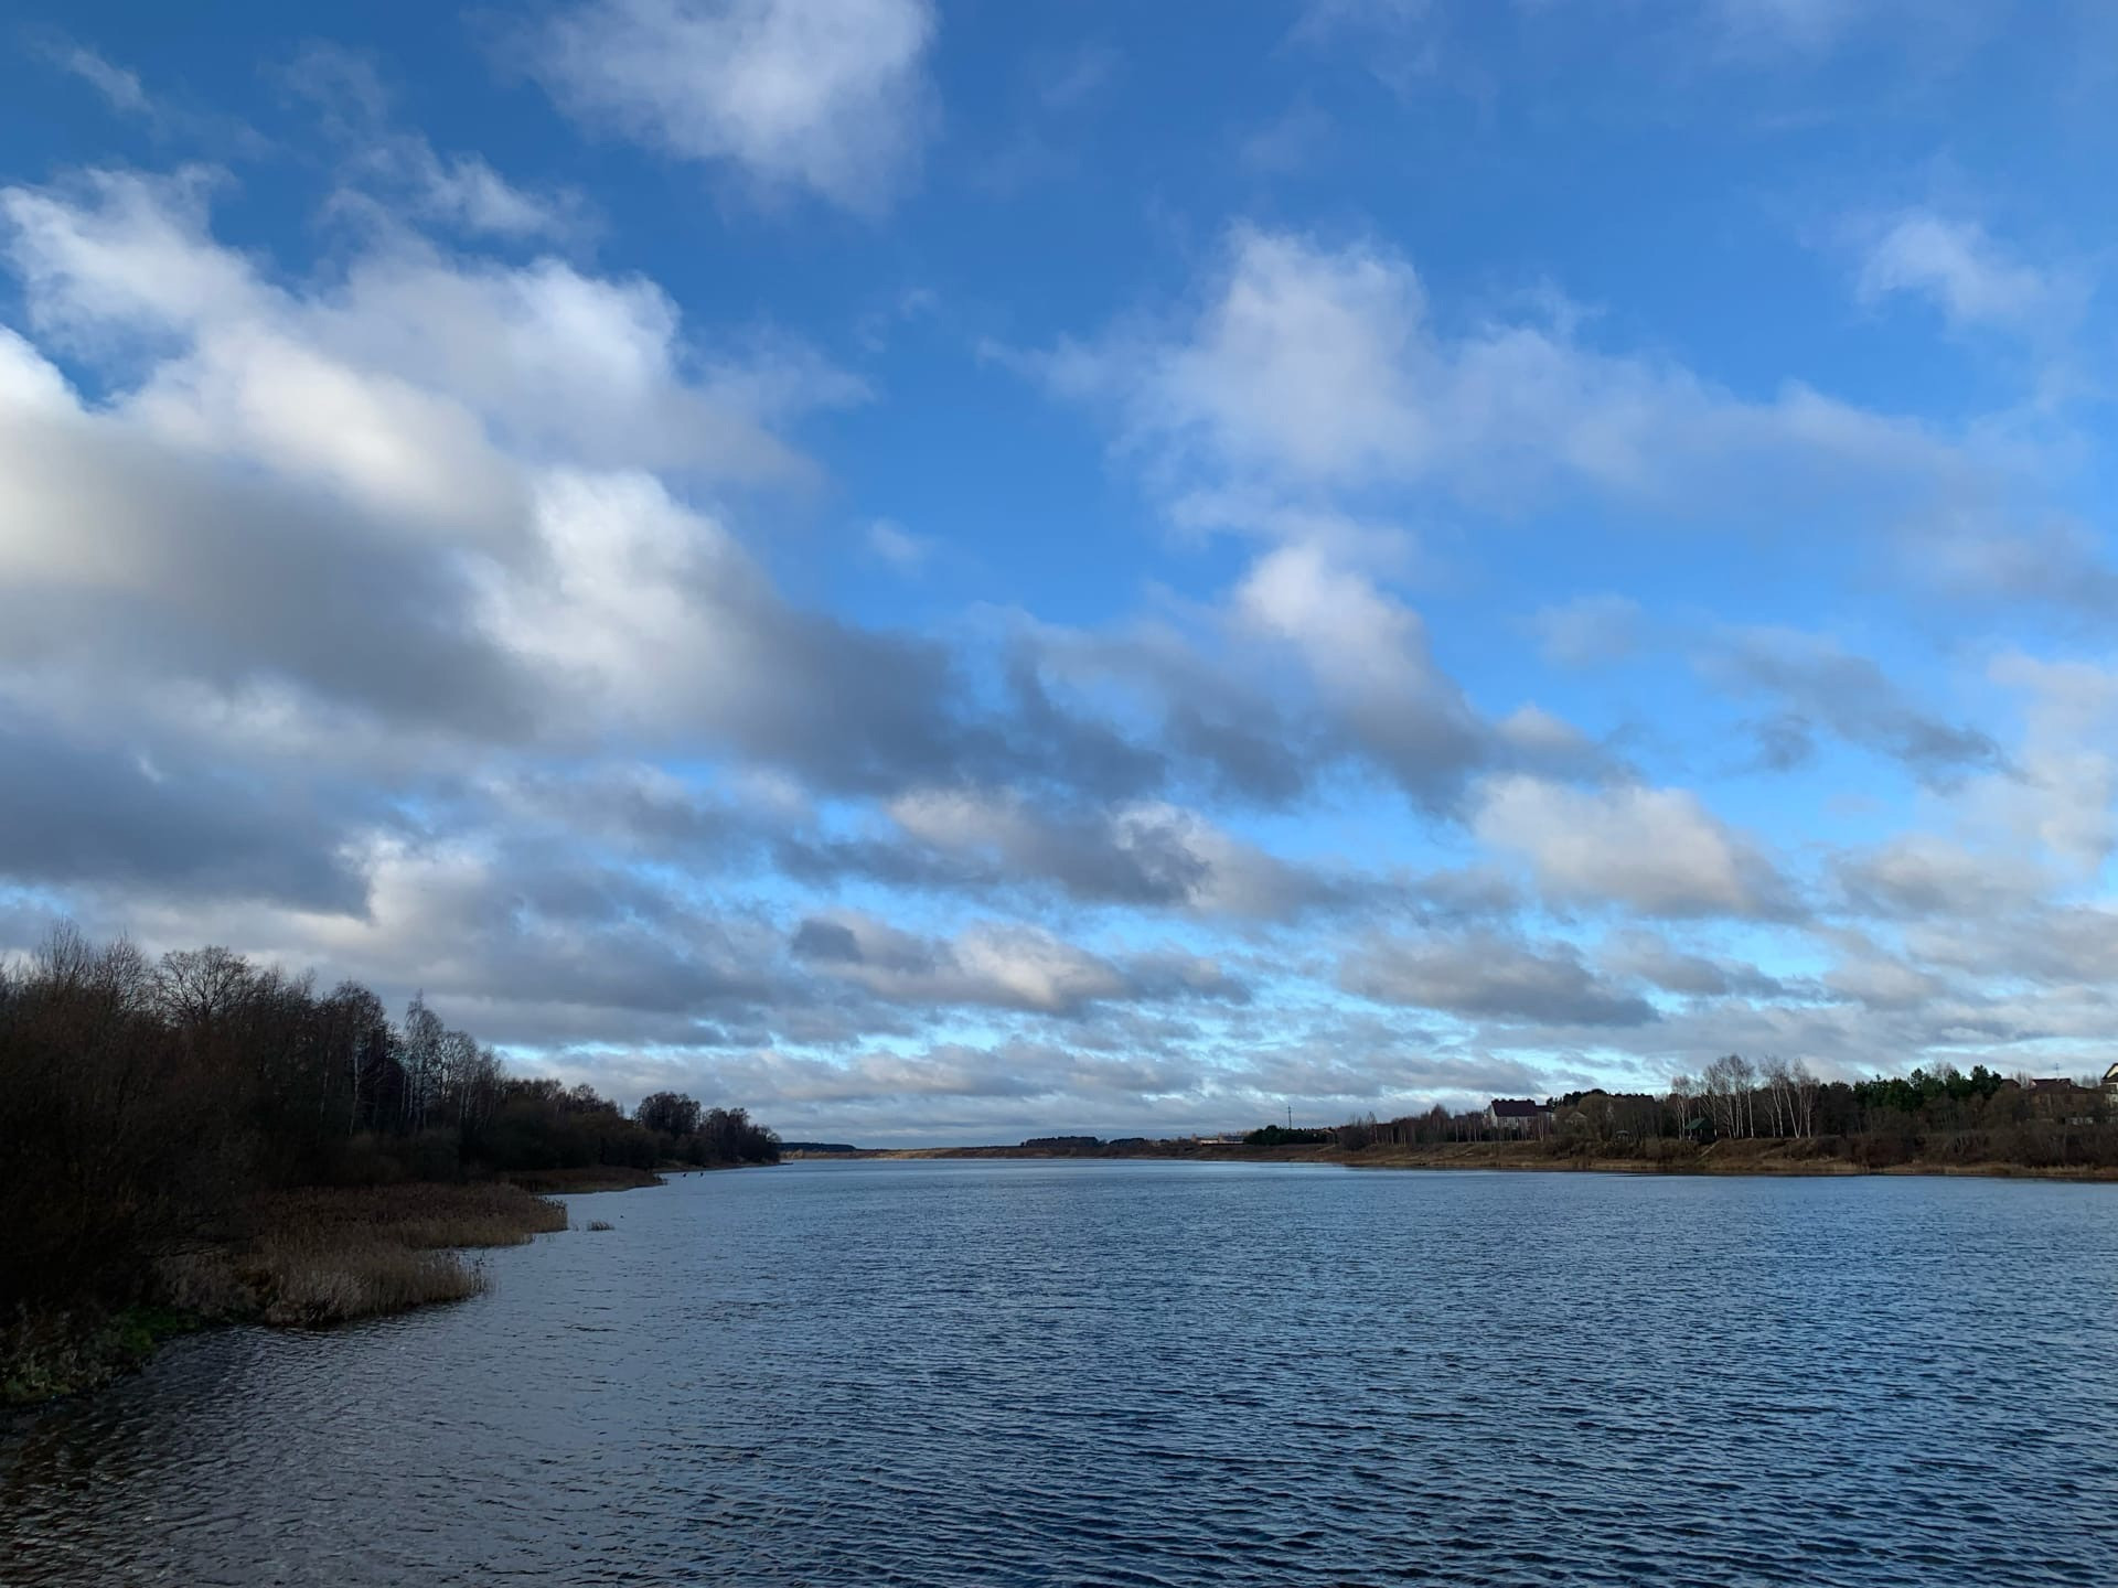
[[[392,722],[519,737],[536,692],[451,559],[116,419],[0,415],[0,661],[222,690],[292,682]],[[21,567],[17,559],[25,559]],[[15,565],[11,565],[15,563]]]

